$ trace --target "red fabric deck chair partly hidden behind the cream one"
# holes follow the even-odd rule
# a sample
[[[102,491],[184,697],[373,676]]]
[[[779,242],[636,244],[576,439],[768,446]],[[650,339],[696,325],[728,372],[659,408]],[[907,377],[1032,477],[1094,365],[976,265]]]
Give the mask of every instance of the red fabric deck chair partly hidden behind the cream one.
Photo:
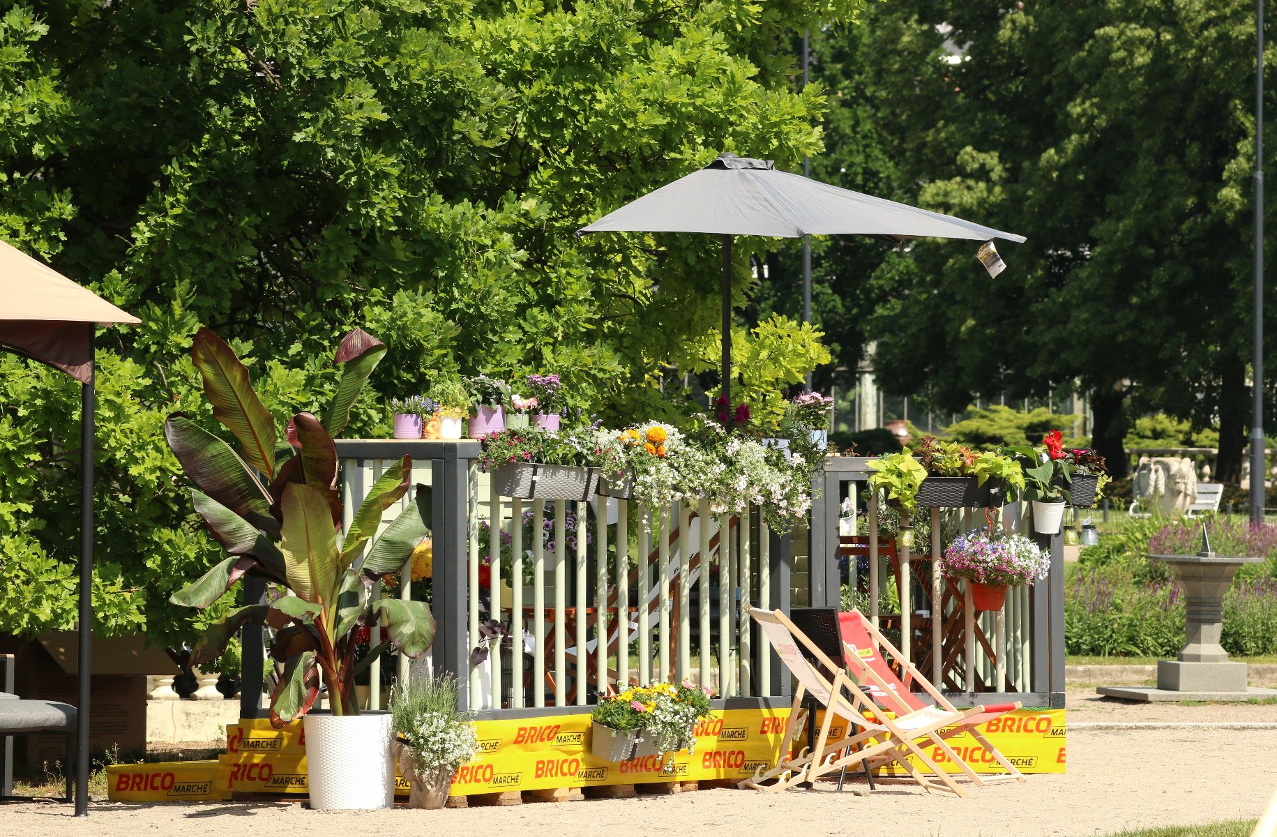
[[[907,717],[911,713],[921,712],[928,708],[940,708],[948,712],[955,719],[950,726],[936,733],[940,742],[951,739],[955,735],[963,732],[969,732],[976,741],[985,748],[994,759],[1002,765],[1008,776],[995,776],[985,777],[983,779],[976,774],[974,771],[964,762],[958,758],[954,751],[944,745],[945,754],[954,760],[958,768],[968,776],[976,785],[985,785],[990,781],[1001,779],[1015,779],[1018,782],[1024,781],[1024,774],[1015,769],[1015,765],[1002,755],[997,748],[988,742],[988,739],[983,736],[979,731],[979,725],[999,718],[1008,712],[1015,712],[1020,708],[1020,703],[995,703],[986,707],[976,707],[974,709],[960,710],[955,709],[951,703],[936,689],[930,680],[922,676],[922,672],[911,663],[905,662],[900,657],[900,652],[896,650],[886,636],[884,636],[868,618],[865,617],[859,611],[852,611],[849,613],[838,615],[838,630],[843,640],[843,662],[847,664],[847,671],[850,676],[859,684],[870,698],[873,699],[880,707],[888,712],[895,713],[898,717]],[[895,671],[888,664],[884,652],[890,654],[891,658],[900,666],[904,671],[904,681],[902,682],[896,677]],[[927,707],[918,695],[909,690],[909,682],[917,682],[922,686],[931,698],[936,702],[936,707]]]

